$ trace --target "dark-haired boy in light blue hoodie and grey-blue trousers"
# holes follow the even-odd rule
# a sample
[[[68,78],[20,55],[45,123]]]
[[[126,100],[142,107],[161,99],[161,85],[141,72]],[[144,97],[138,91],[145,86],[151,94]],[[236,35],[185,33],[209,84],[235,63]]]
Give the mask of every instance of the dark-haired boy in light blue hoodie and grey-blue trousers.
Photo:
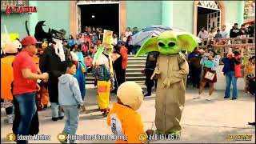
[[[66,124],[62,133],[74,135],[78,128],[79,109],[82,107],[82,96],[78,80],[74,78],[76,66],[73,62],[66,62],[66,74],[58,78],[58,102],[64,109]],[[70,140],[74,143],[74,140]]]

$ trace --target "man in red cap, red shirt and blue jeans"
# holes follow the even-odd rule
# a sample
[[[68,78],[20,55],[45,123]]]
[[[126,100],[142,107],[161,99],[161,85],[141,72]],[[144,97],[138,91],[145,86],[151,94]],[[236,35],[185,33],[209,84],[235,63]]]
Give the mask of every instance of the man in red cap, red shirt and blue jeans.
[[[47,81],[49,74],[38,74],[40,70],[33,60],[38,53],[38,41],[33,36],[22,39],[22,51],[17,54],[13,62],[14,70],[14,98],[17,100],[20,111],[20,121],[15,134],[28,135],[31,120],[36,112],[35,93],[39,90],[38,79]],[[21,143],[26,143],[22,140]]]

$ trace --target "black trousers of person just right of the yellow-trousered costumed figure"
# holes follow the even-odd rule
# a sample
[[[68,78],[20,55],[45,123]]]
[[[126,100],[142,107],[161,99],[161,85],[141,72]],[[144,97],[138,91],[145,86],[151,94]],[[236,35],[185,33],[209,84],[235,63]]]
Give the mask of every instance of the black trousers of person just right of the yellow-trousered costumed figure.
[[[114,91],[118,90],[118,87],[126,82],[126,69],[118,69],[114,70],[115,73],[115,81],[114,81]]]

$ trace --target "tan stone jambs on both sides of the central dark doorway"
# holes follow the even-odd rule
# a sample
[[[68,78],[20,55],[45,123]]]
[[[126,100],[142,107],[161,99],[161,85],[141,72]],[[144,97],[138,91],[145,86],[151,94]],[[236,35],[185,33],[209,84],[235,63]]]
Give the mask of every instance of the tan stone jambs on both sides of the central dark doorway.
[[[77,34],[77,3],[78,1],[70,1],[70,34]],[[126,30],[126,1],[119,1],[119,33],[125,33]]]

